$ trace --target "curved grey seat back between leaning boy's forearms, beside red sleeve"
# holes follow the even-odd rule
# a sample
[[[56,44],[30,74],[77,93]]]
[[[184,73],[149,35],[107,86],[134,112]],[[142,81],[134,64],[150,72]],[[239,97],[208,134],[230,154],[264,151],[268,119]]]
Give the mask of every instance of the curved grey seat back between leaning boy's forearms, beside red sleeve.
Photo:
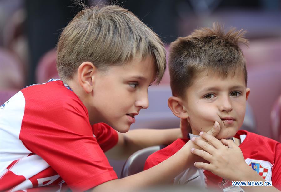
[[[121,178],[143,171],[145,160],[152,153],[163,149],[165,145],[147,147],[133,153],[125,162],[121,171]]]

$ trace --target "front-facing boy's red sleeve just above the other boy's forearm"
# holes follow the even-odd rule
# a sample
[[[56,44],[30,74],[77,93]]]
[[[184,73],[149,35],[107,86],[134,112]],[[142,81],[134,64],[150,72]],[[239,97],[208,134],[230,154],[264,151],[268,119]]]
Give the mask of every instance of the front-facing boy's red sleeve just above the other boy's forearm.
[[[186,139],[177,139],[167,147],[149,155],[149,157],[145,161],[143,170],[147,170],[151,167],[154,167],[155,165],[158,165],[162,161],[168,159],[169,157],[174,155],[178,150],[180,150],[186,142]]]

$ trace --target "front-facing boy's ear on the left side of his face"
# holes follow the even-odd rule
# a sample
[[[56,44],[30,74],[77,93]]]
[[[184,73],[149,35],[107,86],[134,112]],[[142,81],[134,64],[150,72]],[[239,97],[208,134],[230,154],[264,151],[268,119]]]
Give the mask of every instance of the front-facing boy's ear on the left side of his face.
[[[168,99],[168,106],[175,116],[181,119],[187,119],[188,113],[183,106],[183,100],[179,97],[171,96]]]

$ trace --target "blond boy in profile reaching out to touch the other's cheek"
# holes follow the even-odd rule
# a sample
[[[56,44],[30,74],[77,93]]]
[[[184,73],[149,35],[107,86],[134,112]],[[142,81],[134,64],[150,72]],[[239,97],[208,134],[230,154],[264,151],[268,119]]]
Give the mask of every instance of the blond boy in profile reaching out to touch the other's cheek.
[[[113,5],[84,7],[58,41],[61,80],[28,86],[0,107],[0,190],[137,190],[186,169],[187,160],[196,159],[186,153],[196,145],[123,179],[104,154],[128,157],[181,137],[180,129],[125,133],[148,107],[148,87],[160,82],[165,66],[159,37],[133,13]]]

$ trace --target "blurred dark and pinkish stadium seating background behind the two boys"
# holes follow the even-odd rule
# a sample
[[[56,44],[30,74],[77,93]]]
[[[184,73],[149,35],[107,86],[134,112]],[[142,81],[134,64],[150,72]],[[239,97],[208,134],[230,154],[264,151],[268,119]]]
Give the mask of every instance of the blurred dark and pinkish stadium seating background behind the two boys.
[[[120,4],[137,15],[163,40],[167,52],[177,37],[220,22],[248,31],[247,60],[251,94],[243,129],[281,141],[281,1],[280,0],[86,0],[86,5]],[[0,0],[1,104],[24,86],[58,78],[56,43],[81,7],[70,0]],[[169,73],[149,88],[150,107],[141,111],[136,128],[178,127],[170,112]],[[116,162],[113,162],[113,164]],[[120,165],[122,166],[122,163]],[[119,174],[119,170],[117,170]]]

